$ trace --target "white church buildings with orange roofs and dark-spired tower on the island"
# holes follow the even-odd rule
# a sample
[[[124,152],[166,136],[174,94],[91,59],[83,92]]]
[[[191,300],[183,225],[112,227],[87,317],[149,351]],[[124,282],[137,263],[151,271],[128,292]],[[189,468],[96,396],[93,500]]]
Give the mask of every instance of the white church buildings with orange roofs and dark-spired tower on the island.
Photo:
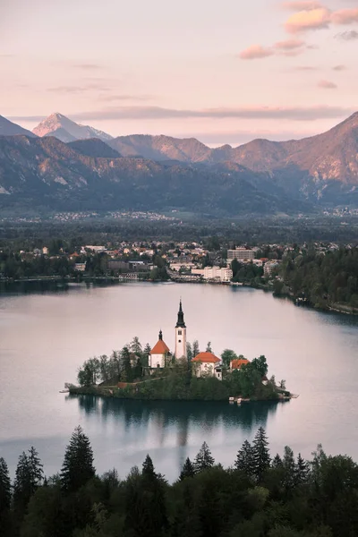
[[[158,342],[151,349],[149,354],[149,368],[162,369],[170,367],[175,360],[184,358],[188,359],[186,348],[186,325],[184,322],[183,305],[182,300],[179,303],[178,318],[175,325],[175,354],[170,352],[168,345],[163,339],[162,330],[159,331]],[[192,370],[197,377],[216,377],[222,379],[222,370],[219,365],[220,358],[217,358],[213,353],[199,353],[192,359]]]

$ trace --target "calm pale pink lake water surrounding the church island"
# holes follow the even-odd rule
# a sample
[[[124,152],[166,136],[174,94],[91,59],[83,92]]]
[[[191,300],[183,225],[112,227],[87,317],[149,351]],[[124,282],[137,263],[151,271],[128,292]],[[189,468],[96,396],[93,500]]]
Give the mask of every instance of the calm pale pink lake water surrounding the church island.
[[[133,336],[154,345],[162,328],[173,348],[179,297],[190,341],[210,340],[249,359],[266,354],[268,374],[300,397],[285,404],[99,400],[60,394],[77,368]],[[67,291],[0,294],[0,456],[38,448],[47,474],[81,423],[99,473],[124,476],[152,456],[168,479],[205,439],[231,465],[244,439],[266,427],[272,451],[290,445],[310,456],[321,442],[358,460],[358,319],[297,308],[262,291],[226,286],[125,284]]]

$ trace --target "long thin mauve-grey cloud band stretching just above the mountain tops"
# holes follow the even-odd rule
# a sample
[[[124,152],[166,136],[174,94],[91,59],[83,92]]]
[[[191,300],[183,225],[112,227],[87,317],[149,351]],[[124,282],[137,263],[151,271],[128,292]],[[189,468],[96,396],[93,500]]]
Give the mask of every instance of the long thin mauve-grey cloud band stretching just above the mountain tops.
[[[277,119],[292,121],[314,121],[331,119],[353,114],[353,108],[345,107],[242,107],[242,108],[205,108],[175,109],[163,107],[109,107],[89,112],[70,114],[74,121],[98,121],[117,119],[174,119],[174,118],[209,118],[209,119]],[[40,122],[43,115],[12,116],[12,121]]]

